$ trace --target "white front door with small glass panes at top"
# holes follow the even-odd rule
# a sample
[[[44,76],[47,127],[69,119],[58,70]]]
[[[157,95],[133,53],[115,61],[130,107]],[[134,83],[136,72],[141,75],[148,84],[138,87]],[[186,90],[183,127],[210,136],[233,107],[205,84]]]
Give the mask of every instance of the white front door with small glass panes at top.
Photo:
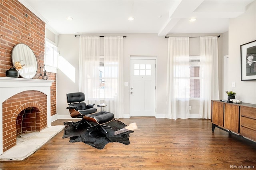
[[[156,60],[130,59],[130,117],[154,117]]]

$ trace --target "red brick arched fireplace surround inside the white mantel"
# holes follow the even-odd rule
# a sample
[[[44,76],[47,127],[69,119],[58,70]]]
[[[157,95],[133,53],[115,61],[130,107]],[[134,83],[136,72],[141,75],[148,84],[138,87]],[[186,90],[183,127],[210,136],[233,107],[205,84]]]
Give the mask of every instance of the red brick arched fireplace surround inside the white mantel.
[[[47,127],[47,96],[39,91],[24,91],[3,102],[3,152],[16,145],[16,120],[24,109],[36,110],[36,131]],[[32,122],[31,120],[27,122]]]

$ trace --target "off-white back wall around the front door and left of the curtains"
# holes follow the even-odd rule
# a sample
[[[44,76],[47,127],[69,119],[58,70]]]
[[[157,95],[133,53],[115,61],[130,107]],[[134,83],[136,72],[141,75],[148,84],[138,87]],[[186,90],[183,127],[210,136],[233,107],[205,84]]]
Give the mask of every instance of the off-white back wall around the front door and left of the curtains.
[[[90,34],[92,35],[92,34]],[[96,34],[94,34],[96,35]],[[130,56],[156,56],[156,117],[164,117],[166,106],[166,69],[168,39],[157,34],[104,34],[127,36],[124,38],[124,82],[130,85]],[[102,36],[102,35],[100,35]],[[76,68],[75,82],[63,71],[57,71],[57,113],[58,119],[70,118],[66,110],[66,93],[78,91],[79,37],[74,34],[59,35],[60,55]],[[67,68],[69,69],[69,68]],[[96,103],[98,104],[98,103]],[[130,86],[124,86],[124,115],[130,115]]]

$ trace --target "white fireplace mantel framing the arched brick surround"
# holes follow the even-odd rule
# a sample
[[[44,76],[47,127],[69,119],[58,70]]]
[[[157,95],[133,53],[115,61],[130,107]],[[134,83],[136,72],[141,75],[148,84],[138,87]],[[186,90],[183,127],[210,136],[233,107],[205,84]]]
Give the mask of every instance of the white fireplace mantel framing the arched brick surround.
[[[0,77],[0,125],[3,121],[4,101],[22,91],[40,91],[47,96],[47,127],[51,126],[51,86],[54,80],[23,79],[12,77]],[[3,127],[0,126],[0,154],[3,153]]]

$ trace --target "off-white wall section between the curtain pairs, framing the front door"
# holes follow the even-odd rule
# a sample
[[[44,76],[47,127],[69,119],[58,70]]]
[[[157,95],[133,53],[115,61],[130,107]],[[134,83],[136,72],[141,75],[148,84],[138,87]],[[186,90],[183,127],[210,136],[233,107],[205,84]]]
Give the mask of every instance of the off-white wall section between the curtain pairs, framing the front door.
[[[164,117],[168,39],[157,34],[127,34],[124,39],[124,82],[130,82],[130,56],[156,56],[156,117]],[[130,86],[124,87],[124,114],[130,114]]]

